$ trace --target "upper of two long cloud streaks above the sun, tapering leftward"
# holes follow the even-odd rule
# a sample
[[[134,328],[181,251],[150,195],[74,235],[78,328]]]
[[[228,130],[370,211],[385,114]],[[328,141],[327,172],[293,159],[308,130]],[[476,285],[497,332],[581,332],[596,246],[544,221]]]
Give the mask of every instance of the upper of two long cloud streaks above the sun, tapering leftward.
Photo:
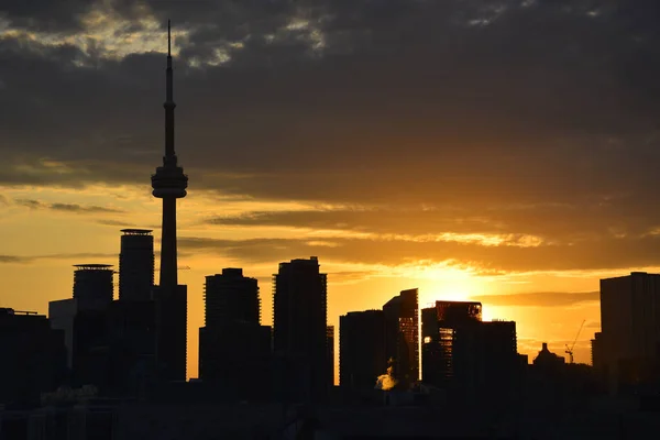
[[[293,227],[380,234],[528,234],[568,244],[576,240],[640,237],[660,226],[660,210],[630,197],[584,200],[582,205],[380,206],[298,211],[254,211],[206,220],[213,226]]]

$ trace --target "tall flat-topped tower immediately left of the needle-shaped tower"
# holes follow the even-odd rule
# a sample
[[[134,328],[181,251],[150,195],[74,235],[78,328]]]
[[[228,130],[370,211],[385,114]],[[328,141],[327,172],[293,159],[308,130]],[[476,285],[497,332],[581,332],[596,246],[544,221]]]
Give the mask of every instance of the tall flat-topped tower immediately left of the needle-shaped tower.
[[[146,229],[122,229],[119,299],[150,300],[154,286],[154,237]]]

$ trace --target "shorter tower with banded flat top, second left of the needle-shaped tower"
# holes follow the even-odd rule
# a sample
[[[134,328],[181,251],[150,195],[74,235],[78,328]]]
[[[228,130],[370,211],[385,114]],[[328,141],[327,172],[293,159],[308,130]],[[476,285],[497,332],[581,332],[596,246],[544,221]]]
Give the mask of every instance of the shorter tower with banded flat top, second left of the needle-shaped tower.
[[[80,310],[103,310],[113,297],[111,264],[77,264],[74,271],[74,299]]]

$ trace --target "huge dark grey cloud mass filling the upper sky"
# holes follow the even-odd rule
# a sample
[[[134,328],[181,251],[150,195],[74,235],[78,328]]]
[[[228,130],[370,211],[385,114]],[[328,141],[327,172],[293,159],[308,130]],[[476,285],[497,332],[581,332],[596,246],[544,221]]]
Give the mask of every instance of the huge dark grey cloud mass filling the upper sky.
[[[657,261],[657,240],[645,238],[660,226],[657,2],[147,3],[189,31],[176,42],[175,97],[191,195],[381,207],[216,222],[534,234],[556,243],[326,250],[348,254],[360,244],[355,252],[370,260],[384,250],[402,258],[420,252],[493,271],[537,268],[543,258],[548,268]],[[52,15],[75,23],[85,4]],[[129,19],[152,13],[116,7]],[[28,14],[20,8],[6,12],[16,23]],[[43,11],[34,9],[35,23]],[[231,59],[205,66],[217,48]],[[2,184],[148,186],[162,154],[162,55],[88,59],[70,45],[3,37],[0,57]],[[92,67],[76,67],[80,59]],[[195,59],[200,67],[186,65]]]

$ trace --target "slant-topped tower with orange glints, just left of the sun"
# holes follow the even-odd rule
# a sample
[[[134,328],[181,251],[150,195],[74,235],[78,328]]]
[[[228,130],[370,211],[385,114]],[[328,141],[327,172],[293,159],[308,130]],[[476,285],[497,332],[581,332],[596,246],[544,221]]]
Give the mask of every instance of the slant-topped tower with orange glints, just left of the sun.
[[[383,306],[385,355],[394,360],[394,376],[402,386],[419,380],[418,290],[402,290]]]

